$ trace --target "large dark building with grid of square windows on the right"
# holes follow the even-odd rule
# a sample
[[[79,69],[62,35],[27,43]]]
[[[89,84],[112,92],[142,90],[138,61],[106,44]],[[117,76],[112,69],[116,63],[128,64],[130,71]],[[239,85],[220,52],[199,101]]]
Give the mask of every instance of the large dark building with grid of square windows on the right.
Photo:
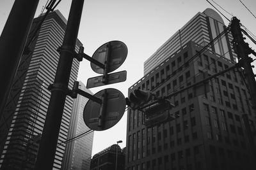
[[[197,27],[191,25],[187,29]],[[202,33],[198,31],[186,37]],[[220,42],[223,39],[216,44]],[[175,49],[161,46],[161,51],[173,52],[150,67],[151,71],[129,88],[129,94],[141,89],[150,90],[157,97],[170,96],[193,85],[196,76],[211,76],[234,66],[232,57],[212,48],[202,50],[203,46],[198,41],[188,41]],[[231,54],[232,49],[227,53]],[[161,53],[158,55],[161,58]],[[127,170],[255,169],[255,108],[240,69],[212,78],[209,92],[200,95],[194,88],[187,89],[170,97],[170,102],[175,105],[168,110],[172,119],[153,127],[145,126],[144,112],[128,109]]]

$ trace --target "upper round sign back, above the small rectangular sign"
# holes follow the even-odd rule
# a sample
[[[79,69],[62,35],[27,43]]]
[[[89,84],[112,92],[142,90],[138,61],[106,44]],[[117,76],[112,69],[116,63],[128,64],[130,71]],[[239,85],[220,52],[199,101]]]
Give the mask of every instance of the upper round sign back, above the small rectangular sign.
[[[127,57],[127,46],[122,41],[109,41],[100,46],[92,55],[92,58],[105,64],[108,57],[108,73],[115,71],[120,67]],[[106,64],[105,64],[106,66]],[[92,70],[95,73],[103,74],[104,69],[91,62]]]

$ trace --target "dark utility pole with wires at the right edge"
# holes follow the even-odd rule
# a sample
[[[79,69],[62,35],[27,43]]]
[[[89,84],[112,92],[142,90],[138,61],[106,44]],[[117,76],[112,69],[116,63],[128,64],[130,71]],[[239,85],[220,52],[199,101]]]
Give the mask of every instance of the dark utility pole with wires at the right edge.
[[[253,108],[256,108],[256,82],[255,74],[253,73],[251,65],[253,59],[248,56],[250,53],[253,53],[253,50],[249,47],[248,43],[244,42],[240,20],[238,20],[236,17],[233,17],[231,20],[230,31],[232,32],[232,36],[234,38],[233,45],[236,49],[239,62],[241,62],[241,66],[244,68],[244,76],[248,81]]]

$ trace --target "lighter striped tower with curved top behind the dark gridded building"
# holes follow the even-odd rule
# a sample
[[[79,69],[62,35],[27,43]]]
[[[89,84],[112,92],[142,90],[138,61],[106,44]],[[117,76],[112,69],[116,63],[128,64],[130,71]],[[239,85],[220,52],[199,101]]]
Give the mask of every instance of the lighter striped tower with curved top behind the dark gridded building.
[[[195,43],[205,46],[225,28],[223,19],[216,11],[207,8],[202,13],[198,12],[144,62],[144,75],[170,57],[177,49],[182,48],[188,41],[195,41]],[[237,55],[234,50],[230,50],[232,49],[231,40],[232,35],[225,34],[218,43],[212,43],[210,48],[228,60],[235,61]]]

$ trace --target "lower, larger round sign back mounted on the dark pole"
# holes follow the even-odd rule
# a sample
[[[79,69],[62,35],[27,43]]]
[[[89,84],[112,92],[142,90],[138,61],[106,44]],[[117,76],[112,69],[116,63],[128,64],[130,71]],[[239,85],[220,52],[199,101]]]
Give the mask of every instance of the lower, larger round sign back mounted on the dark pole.
[[[102,117],[100,115],[101,104],[92,101],[91,99],[86,103],[84,107],[84,122],[90,129],[94,131],[104,131],[113,127],[119,122],[124,115],[125,111],[125,97],[122,92],[116,89],[104,89],[106,90],[106,111]],[[100,90],[95,94],[95,97],[101,97],[104,94],[104,90]],[[102,126],[99,126],[99,120],[102,118]]]

